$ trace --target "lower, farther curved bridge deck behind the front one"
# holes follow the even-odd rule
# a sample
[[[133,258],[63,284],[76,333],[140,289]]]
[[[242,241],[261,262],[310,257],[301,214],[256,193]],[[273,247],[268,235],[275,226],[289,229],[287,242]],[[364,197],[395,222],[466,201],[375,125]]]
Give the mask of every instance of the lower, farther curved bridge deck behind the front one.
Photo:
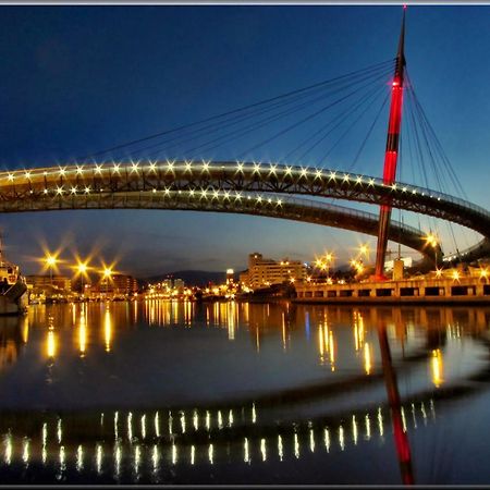
[[[280,218],[304,223],[320,224],[356,231],[376,236],[378,217],[370,212],[358,211],[342,206],[322,204],[314,200],[273,195],[244,193],[243,198],[213,197],[203,199],[188,192],[169,192],[158,195],[152,191],[137,193],[112,193],[82,196],[63,196],[42,200],[22,203],[19,200],[0,203],[0,212],[32,212],[88,209],[156,209],[180,211],[226,212]],[[425,235],[419,230],[392,221],[390,240],[419,252],[426,260],[434,262],[436,250],[428,247]]]

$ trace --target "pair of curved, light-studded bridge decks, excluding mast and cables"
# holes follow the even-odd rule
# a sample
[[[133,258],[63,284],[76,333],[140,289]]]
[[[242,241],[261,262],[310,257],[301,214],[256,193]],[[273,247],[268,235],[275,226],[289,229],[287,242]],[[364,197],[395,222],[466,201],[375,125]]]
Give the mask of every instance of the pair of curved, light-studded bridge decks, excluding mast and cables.
[[[297,196],[301,196],[299,198]],[[309,199],[307,199],[309,198]],[[311,199],[313,198],[313,199]],[[279,163],[125,161],[0,172],[0,212],[70,209],[174,209],[283,218],[377,235],[376,215],[324,203],[335,198],[393,207],[467,226],[483,238],[471,259],[488,253],[490,212],[463,199],[401,182]],[[440,246],[392,222],[389,238],[432,261]]]

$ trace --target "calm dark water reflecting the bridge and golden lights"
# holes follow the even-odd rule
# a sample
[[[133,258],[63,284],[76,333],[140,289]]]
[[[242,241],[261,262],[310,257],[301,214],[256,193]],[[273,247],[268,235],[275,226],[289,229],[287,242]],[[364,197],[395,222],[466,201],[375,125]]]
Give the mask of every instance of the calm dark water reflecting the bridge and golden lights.
[[[32,306],[0,318],[0,482],[485,485],[489,324],[490,307]]]

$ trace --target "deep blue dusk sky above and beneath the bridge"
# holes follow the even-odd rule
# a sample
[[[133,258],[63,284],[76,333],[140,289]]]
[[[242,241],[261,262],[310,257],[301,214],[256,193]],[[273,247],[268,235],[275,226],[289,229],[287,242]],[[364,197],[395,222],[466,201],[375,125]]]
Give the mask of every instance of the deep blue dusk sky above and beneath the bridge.
[[[0,168],[7,170],[71,162],[390,60],[402,8],[11,5],[0,7]],[[417,97],[467,198],[485,208],[490,204],[489,23],[486,5],[409,5],[405,41]],[[381,175],[387,118],[388,109],[359,172]],[[363,131],[351,149],[359,146]],[[250,136],[203,157],[234,160],[259,139]],[[287,149],[282,139],[249,158],[280,161]],[[352,159],[347,149],[332,155],[328,166],[345,168]],[[315,156],[310,163],[316,164]],[[404,157],[400,180],[413,180],[408,163]],[[42,247],[62,247],[66,260],[95,253],[95,266],[99,258],[117,259],[115,269],[148,277],[240,270],[255,250],[309,261],[333,249],[342,262],[362,241],[375,245],[373,238],[313,224],[184,211],[4,215],[0,226],[8,258],[25,273],[40,270],[35,259]],[[448,232],[441,228],[443,236]],[[477,240],[455,231],[462,249]],[[453,248],[448,243],[445,252]]]

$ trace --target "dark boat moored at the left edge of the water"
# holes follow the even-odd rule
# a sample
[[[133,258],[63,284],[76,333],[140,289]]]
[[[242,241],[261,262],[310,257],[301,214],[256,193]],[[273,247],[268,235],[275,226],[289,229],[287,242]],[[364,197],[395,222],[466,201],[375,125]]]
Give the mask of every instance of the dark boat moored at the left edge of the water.
[[[28,294],[25,278],[20,267],[3,257],[0,236],[0,315],[24,315],[27,311]]]

